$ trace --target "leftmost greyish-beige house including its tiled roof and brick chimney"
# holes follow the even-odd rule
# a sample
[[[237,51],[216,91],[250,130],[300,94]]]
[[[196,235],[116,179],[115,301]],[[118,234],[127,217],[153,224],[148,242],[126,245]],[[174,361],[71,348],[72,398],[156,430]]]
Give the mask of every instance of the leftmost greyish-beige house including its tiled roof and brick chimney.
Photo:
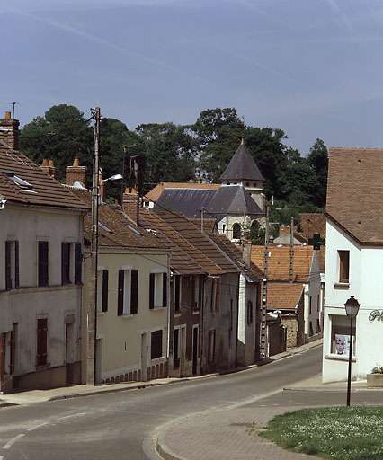
[[[17,151],[17,128],[10,113],[0,120],[2,391],[62,386],[81,378],[81,242],[87,206]]]

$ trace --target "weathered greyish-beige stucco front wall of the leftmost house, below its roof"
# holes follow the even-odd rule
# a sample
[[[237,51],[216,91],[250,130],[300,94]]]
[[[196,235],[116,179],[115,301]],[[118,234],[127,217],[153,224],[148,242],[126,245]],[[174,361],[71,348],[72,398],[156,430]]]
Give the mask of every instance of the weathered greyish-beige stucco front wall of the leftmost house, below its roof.
[[[3,388],[47,388],[80,381],[81,284],[75,283],[75,244],[82,241],[79,211],[18,207],[0,211],[0,260],[11,265],[18,245],[18,286],[0,277],[0,334],[4,334]],[[39,286],[39,242],[48,242],[48,282]],[[7,242],[7,243],[5,243]],[[17,243],[16,243],[17,242]],[[69,279],[62,279],[62,243],[70,252]],[[14,277],[11,266],[11,278]],[[46,357],[39,363],[38,323],[45,323]]]

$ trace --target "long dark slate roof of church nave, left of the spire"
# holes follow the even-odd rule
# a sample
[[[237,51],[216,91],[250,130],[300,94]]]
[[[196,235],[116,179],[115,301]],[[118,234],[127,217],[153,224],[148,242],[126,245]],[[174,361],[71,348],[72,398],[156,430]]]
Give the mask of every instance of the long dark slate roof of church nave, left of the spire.
[[[218,190],[165,189],[156,201],[155,209],[171,209],[182,212],[186,217],[200,217],[200,209],[206,208]]]

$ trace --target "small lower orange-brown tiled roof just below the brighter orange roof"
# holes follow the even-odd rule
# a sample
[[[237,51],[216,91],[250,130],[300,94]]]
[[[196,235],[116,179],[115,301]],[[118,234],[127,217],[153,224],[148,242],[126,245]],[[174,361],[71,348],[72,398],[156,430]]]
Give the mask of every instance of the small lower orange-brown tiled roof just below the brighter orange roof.
[[[270,283],[267,285],[268,310],[294,310],[302,296],[301,283]]]

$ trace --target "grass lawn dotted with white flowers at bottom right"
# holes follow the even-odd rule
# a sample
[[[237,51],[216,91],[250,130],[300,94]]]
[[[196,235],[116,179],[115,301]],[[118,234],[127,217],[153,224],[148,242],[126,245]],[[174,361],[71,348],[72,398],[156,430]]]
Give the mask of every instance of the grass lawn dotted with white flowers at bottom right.
[[[258,431],[256,427],[253,430]],[[335,460],[382,460],[383,407],[289,412],[275,417],[258,434],[302,454]]]

